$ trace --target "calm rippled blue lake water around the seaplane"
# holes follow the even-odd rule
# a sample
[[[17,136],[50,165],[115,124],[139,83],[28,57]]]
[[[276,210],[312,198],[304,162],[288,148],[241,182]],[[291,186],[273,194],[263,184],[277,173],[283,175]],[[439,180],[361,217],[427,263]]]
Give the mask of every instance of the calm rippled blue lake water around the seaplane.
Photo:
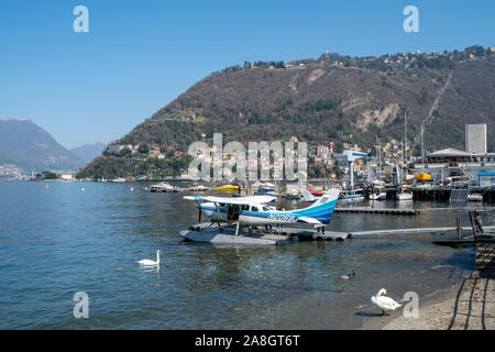
[[[185,194],[45,185],[0,183],[0,329],[355,328],[381,287],[395,298],[427,297],[474,270],[473,249],[435,246],[429,234],[284,246],[184,242],[178,231],[198,217]],[[336,213],[330,228],[453,226],[461,215],[468,224],[455,211]],[[160,271],[136,264],[157,249]],[[351,270],[356,279],[340,279]],[[89,296],[89,319],[74,318],[77,292]]]

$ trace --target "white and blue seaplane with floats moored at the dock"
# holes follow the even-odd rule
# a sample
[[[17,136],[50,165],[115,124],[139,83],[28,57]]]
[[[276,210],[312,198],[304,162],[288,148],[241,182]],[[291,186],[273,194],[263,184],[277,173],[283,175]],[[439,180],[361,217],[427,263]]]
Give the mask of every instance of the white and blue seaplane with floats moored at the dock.
[[[195,197],[185,196],[194,200],[199,211],[199,223],[188,230],[179,231],[186,240],[209,243],[228,244],[279,244],[298,241],[298,231],[306,234],[306,229],[284,229],[284,224],[312,224],[318,232],[330,223],[339,199],[338,189],[330,189],[319,197],[312,205],[302,209],[283,210],[268,204],[275,197]],[[201,216],[209,222],[201,223]],[[276,226],[278,231],[272,231]],[[258,227],[265,227],[262,231]],[[314,233],[312,231],[311,233]]]

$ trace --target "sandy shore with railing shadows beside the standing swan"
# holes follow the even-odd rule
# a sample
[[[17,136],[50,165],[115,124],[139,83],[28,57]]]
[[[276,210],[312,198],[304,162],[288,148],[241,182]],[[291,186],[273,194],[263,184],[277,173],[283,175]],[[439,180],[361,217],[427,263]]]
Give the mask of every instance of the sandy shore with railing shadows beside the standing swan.
[[[433,302],[425,307],[420,304],[418,318],[405,318],[398,310],[387,317],[369,318],[363,329],[495,330],[495,278],[473,274]]]

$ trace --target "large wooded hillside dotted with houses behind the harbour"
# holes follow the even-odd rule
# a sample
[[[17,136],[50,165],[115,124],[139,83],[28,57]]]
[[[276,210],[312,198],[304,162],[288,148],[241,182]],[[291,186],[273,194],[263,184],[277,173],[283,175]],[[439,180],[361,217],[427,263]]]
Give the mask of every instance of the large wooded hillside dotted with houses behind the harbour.
[[[318,59],[245,63],[201,79],[113,142],[84,177],[178,174],[194,141],[333,141],[371,148],[376,139],[425,147],[464,146],[466,123],[495,122],[495,47],[381,57],[324,54]],[[494,150],[495,140],[488,139]],[[151,152],[150,152],[151,150]],[[374,150],[373,150],[374,151]],[[372,151],[372,152],[373,152]],[[154,156],[162,154],[164,158]]]

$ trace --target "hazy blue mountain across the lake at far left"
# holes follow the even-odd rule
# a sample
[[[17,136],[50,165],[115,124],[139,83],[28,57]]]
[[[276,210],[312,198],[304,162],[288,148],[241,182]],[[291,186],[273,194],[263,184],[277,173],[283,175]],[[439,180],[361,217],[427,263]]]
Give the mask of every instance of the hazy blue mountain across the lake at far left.
[[[0,165],[25,172],[73,170],[85,163],[30,120],[0,118]]]

